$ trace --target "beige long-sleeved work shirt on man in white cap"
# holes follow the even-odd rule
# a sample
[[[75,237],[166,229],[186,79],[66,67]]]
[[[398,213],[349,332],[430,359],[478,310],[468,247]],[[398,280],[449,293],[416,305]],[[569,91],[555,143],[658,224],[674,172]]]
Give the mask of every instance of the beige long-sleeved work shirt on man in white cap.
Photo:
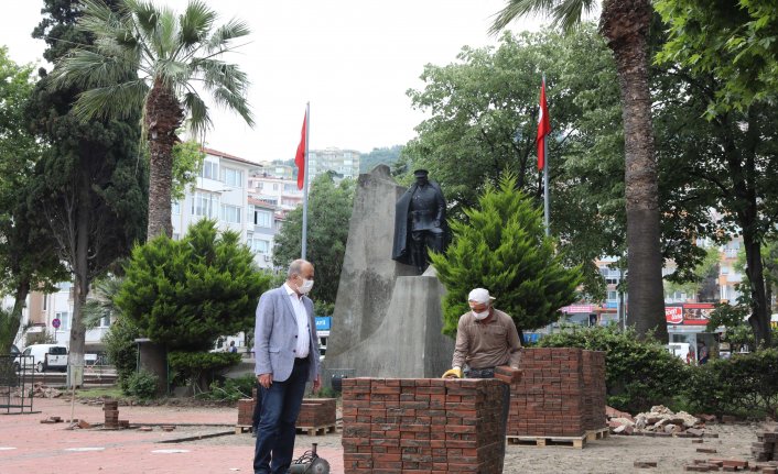
[[[472,311],[460,317],[452,367],[487,368],[498,365],[519,367],[521,342],[510,316],[493,309],[488,322],[477,321]]]

